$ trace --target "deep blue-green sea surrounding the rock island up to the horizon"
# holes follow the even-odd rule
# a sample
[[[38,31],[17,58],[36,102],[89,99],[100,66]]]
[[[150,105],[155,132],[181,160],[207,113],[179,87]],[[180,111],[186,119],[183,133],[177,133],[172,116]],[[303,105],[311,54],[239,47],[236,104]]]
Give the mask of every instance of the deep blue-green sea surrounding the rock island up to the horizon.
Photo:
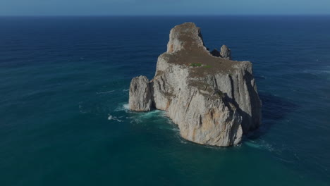
[[[126,109],[174,25],[252,61],[263,125],[237,147]],[[330,17],[0,18],[0,185],[330,185]]]

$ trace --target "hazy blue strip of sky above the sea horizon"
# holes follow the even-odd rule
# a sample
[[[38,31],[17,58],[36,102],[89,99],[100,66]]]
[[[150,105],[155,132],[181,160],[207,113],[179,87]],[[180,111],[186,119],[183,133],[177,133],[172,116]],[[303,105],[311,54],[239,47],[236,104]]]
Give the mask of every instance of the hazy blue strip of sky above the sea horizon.
[[[330,14],[330,0],[0,0],[0,16]]]

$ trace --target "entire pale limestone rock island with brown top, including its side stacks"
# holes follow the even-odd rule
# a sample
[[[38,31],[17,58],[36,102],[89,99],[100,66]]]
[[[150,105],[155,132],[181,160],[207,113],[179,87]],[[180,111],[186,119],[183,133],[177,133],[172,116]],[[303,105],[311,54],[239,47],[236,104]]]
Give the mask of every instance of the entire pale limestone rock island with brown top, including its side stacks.
[[[154,78],[133,78],[130,109],[167,111],[181,136],[198,144],[240,143],[243,134],[261,124],[261,101],[252,63],[229,58],[224,46],[221,55],[210,54],[194,23],[173,27]]]

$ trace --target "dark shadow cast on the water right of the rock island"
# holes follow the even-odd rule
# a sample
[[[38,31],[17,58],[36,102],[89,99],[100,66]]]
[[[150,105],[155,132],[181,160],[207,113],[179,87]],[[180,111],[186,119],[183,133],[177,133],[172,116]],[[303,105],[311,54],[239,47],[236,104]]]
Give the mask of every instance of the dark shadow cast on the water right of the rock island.
[[[297,104],[269,93],[259,93],[262,100],[262,125],[247,135],[248,140],[255,140],[269,131],[272,125],[286,118],[288,113],[299,108]]]

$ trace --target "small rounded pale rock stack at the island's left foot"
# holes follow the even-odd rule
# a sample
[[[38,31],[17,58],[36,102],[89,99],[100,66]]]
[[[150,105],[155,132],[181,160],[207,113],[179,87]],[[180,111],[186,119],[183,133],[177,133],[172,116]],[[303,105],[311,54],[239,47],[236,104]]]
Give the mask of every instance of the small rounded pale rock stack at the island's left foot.
[[[130,99],[128,101],[130,110],[150,111],[152,100],[149,80],[144,75],[134,77],[130,82]]]

